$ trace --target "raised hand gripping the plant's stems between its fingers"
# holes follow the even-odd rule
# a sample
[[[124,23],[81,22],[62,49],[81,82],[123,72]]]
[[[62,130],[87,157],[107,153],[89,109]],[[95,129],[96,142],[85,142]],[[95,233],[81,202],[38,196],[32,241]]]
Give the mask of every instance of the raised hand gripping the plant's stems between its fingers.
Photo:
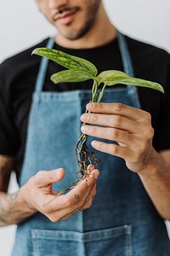
[[[88,103],[91,113],[82,114],[82,133],[118,144],[93,141],[99,151],[122,157],[128,169],[141,172],[153,159],[150,113],[121,103]],[[93,126],[99,125],[99,126]]]

